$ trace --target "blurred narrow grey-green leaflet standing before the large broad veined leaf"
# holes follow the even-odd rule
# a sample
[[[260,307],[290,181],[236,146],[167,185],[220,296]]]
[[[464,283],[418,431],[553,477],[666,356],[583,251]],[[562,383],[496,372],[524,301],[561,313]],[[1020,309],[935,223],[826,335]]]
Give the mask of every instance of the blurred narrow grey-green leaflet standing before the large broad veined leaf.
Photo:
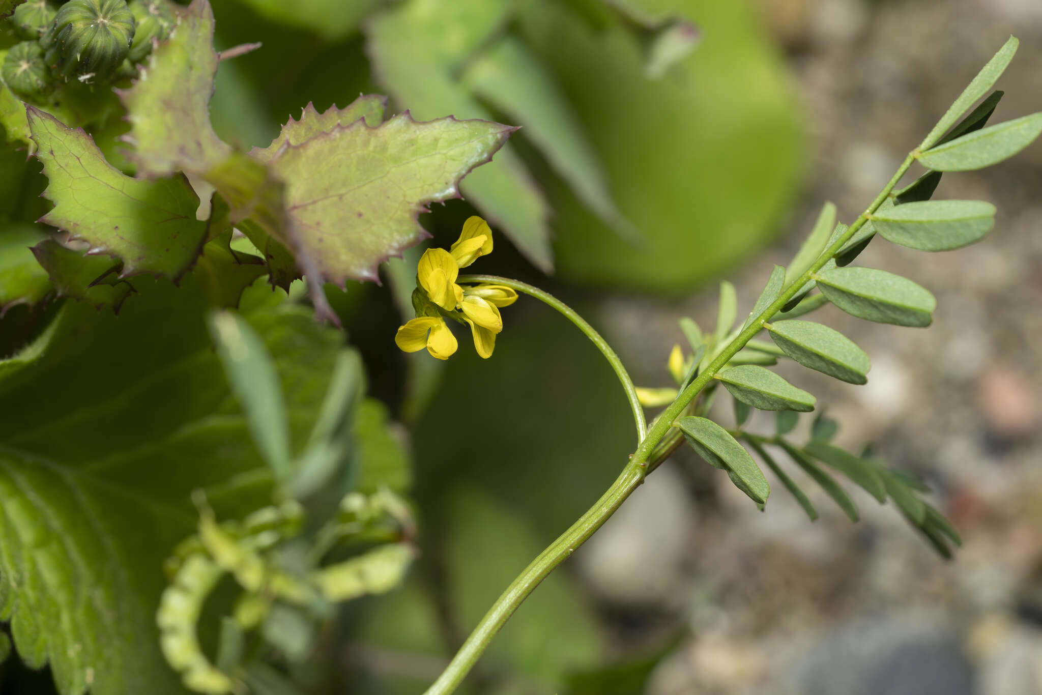
[[[208,324],[250,437],[275,479],[284,482],[290,475],[290,426],[282,387],[264,340],[232,312],[213,313]]]

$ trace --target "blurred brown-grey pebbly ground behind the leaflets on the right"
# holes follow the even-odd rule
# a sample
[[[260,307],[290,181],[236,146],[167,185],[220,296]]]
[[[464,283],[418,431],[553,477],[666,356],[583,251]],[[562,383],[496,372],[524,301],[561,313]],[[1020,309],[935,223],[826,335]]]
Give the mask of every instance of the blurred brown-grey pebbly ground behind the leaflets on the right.
[[[762,4],[816,152],[787,233],[735,278],[744,305],[792,256],[824,200],[847,222],[865,207],[1010,33],[1021,48],[994,118],[1042,109],[1039,0]],[[860,492],[858,524],[823,495],[813,496],[821,518],[812,524],[780,486],[758,514],[724,476],[680,453],[578,562],[617,617],[620,649],[690,627],[651,695],[1042,695],[1042,146],[946,175],[936,197],[994,202],[994,231],[935,254],[877,241],[860,258],[933,291],[934,325],[822,311],[871,356],[869,383],[779,370],[828,405],[840,443],[875,442],[890,463],[925,477],[964,547],[940,561],[894,508]],[[664,383],[676,317],[711,325],[713,294],[669,306],[620,298],[603,321],[640,376]],[[638,343],[649,324],[662,340]],[[648,528],[656,541],[638,543]]]

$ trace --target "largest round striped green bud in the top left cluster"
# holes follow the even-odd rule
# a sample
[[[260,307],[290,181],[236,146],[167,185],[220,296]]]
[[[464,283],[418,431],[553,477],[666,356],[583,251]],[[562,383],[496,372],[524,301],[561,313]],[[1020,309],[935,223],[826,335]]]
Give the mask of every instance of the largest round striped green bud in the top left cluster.
[[[41,44],[56,76],[103,82],[127,57],[133,30],[133,14],[124,0],[70,0]]]

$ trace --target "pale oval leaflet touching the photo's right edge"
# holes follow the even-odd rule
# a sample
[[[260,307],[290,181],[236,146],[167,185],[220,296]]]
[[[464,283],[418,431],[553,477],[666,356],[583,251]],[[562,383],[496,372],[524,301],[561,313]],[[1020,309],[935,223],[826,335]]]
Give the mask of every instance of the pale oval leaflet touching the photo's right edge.
[[[1042,133],[1042,113],[974,130],[919,155],[919,164],[936,171],[984,169],[1024,149]]]

